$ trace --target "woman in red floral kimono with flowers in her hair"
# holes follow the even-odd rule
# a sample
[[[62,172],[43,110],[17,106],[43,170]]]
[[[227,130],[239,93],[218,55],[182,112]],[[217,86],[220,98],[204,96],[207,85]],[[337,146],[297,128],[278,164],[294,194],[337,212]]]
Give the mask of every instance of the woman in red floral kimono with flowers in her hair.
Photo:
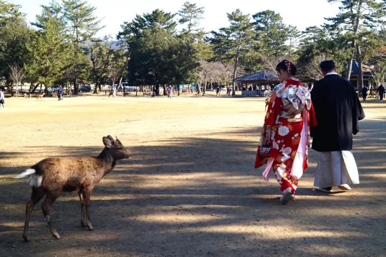
[[[280,184],[280,201],[295,199],[298,180],[308,165],[310,127],[316,126],[311,94],[295,78],[296,67],[288,60],[276,66],[280,84],[273,89],[257,149],[255,168],[266,164],[263,177],[271,168]]]

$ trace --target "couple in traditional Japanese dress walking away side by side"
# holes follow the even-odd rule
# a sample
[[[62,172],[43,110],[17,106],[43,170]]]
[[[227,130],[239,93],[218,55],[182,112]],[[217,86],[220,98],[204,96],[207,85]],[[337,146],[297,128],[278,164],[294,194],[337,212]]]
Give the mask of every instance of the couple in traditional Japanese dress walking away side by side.
[[[280,201],[295,200],[299,179],[308,166],[308,145],[320,152],[314,185],[331,192],[332,187],[351,190],[359,184],[352,154],[353,135],[364,112],[351,82],[336,73],[332,60],[320,63],[324,78],[310,92],[295,78],[296,66],[283,60],[276,66],[280,84],[272,90],[255,160],[264,164],[263,177],[272,169],[280,185]],[[335,92],[336,94],[331,94]]]

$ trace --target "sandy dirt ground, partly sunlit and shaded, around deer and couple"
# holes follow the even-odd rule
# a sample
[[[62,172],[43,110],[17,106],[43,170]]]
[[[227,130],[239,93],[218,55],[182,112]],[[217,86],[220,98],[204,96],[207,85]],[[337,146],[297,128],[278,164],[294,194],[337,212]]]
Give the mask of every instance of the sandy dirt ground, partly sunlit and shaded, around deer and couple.
[[[297,198],[279,204],[254,157],[264,98],[6,99],[0,109],[0,256],[386,256],[386,104],[369,100],[355,136],[361,184],[315,191],[318,153]],[[93,190],[94,231],[80,225],[76,193],[63,194],[51,236],[40,204],[22,239],[31,189],[15,180],[49,156],[97,155],[118,136],[133,159]]]

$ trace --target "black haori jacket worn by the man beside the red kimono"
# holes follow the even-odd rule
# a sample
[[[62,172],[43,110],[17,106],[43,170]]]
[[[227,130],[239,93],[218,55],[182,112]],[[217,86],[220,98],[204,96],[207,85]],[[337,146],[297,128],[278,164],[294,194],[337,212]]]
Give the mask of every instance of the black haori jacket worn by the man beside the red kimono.
[[[352,135],[359,132],[364,112],[350,81],[327,75],[311,91],[318,126],[311,129],[312,149],[319,152],[352,149]]]

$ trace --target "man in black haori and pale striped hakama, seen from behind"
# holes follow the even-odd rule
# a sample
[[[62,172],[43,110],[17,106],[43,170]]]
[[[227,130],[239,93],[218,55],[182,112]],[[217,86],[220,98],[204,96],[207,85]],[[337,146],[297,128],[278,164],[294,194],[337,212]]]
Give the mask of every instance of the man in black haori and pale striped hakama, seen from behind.
[[[352,135],[359,132],[364,112],[351,82],[336,73],[332,60],[320,63],[324,78],[311,91],[318,126],[311,129],[312,148],[320,152],[314,186],[323,192],[332,187],[351,190],[359,184],[352,155]]]

